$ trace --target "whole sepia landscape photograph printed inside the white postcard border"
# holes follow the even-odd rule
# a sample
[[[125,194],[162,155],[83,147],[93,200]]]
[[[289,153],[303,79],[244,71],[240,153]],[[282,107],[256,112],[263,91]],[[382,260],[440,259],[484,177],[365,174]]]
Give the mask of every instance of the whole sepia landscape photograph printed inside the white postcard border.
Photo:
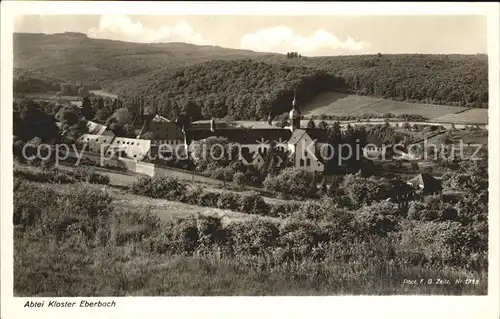
[[[12,18],[23,307],[497,289],[486,14],[152,13]]]

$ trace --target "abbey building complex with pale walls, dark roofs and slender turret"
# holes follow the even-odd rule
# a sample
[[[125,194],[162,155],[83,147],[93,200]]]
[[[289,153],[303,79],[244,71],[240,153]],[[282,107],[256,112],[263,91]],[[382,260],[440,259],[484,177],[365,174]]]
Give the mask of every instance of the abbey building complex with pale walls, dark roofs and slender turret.
[[[221,137],[239,146],[240,160],[245,165],[258,168],[263,166],[270,147],[274,145],[288,154],[288,162],[293,166],[311,173],[322,173],[325,165],[323,157],[326,154],[322,153],[321,146],[327,143],[327,132],[320,128],[301,128],[301,114],[295,96],[289,118],[290,126],[285,128],[228,127],[224,122],[217,123],[215,119],[210,121],[209,127],[190,125],[184,128],[157,114],[151,114],[146,117],[136,139],[109,136],[109,130],[101,127],[98,134],[85,134],[79,142],[92,145],[88,148],[91,152],[101,149],[102,146],[107,155],[117,152],[118,157],[125,156],[142,161],[148,152],[158,152],[160,145],[181,148],[185,152],[194,141]],[[106,135],[105,138],[103,135]],[[103,143],[106,145],[102,145]]]

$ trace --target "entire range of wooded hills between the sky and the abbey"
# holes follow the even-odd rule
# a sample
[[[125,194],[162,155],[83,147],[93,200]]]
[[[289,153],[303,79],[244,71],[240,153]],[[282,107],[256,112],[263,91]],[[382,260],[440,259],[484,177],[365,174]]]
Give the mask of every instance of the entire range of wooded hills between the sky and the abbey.
[[[121,96],[162,98],[164,114],[254,119],[322,91],[487,107],[486,55],[296,57],[189,44],[137,44],[82,35],[16,34],[23,74],[92,84]]]

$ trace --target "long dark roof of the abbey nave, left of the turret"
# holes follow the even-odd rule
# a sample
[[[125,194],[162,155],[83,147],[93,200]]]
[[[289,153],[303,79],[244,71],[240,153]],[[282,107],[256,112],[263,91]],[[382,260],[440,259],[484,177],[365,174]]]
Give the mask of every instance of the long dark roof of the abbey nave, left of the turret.
[[[186,130],[186,138],[188,142],[203,140],[211,136],[227,138],[229,142],[238,144],[258,144],[263,141],[269,144],[273,141],[287,141],[291,136],[291,132],[287,129],[218,129],[215,132],[211,130]]]

